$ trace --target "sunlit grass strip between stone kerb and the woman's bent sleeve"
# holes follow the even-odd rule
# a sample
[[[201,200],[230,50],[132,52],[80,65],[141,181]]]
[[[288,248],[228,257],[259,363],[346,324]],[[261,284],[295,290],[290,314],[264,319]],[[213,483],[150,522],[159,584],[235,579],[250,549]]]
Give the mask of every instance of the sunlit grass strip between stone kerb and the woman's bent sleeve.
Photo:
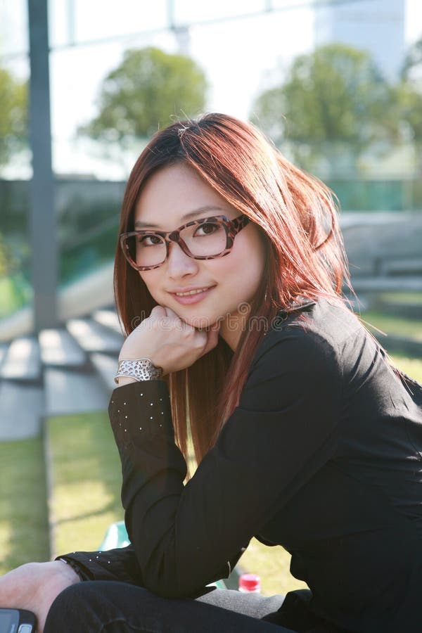
[[[46,423],[51,452],[53,554],[94,550],[123,518],[120,459],[106,412]]]

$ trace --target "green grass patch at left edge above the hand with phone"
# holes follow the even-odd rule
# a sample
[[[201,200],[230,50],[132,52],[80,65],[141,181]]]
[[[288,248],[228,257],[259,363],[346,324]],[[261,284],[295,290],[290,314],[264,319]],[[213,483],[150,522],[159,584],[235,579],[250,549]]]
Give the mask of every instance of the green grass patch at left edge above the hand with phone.
[[[49,530],[42,440],[0,442],[0,575],[48,561]]]

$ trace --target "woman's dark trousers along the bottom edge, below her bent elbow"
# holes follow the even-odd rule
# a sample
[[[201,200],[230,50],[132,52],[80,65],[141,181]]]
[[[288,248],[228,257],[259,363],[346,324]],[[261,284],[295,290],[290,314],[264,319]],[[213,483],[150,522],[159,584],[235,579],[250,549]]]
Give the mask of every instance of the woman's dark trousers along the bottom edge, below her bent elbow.
[[[44,633],[292,633],[262,620],[282,602],[219,589],[167,599],[124,582],[79,582],[57,596]]]

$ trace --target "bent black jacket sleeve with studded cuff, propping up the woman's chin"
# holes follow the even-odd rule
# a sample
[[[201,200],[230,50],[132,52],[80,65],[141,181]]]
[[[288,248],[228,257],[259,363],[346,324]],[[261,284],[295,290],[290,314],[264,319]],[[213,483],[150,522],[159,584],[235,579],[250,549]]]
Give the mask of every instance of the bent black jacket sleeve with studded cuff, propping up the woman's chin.
[[[238,407],[184,485],[166,383],[114,390],[109,414],[137,580],[181,597],[226,575],[250,538],[333,455],[340,392],[338,355],[326,340],[302,327],[269,333]]]

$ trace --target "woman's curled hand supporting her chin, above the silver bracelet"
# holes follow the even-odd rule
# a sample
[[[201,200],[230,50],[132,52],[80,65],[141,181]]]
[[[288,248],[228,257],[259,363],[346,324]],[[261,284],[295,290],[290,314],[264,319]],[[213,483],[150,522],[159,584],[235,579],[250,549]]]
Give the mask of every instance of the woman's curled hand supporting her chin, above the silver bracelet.
[[[157,305],[124,341],[119,360],[146,357],[163,373],[179,371],[210,352],[218,343],[218,332],[219,324],[198,330],[172,309]]]

